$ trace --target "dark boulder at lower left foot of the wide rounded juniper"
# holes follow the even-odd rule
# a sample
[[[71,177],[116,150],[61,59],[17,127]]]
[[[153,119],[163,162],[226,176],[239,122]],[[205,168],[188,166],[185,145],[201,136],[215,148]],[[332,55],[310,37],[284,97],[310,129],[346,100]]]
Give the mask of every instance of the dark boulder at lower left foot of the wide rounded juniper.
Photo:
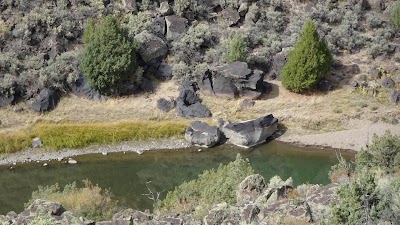
[[[75,82],[69,85],[72,93],[79,97],[85,97],[90,100],[104,101],[107,99],[106,96],[100,94],[99,91],[94,90],[89,85],[89,80],[81,75]]]

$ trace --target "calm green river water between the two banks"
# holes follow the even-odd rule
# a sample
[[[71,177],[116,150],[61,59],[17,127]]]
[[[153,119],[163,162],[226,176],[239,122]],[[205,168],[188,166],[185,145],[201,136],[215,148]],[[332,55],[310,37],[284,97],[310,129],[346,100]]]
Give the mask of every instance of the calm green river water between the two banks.
[[[38,185],[65,184],[89,179],[100,187],[110,188],[123,206],[134,209],[150,209],[151,200],[145,183],[152,181],[157,191],[172,190],[185,180],[196,178],[205,169],[216,168],[220,163],[233,161],[237,153],[248,158],[256,173],[266,180],[274,175],[283,179],[292,177],[294,184],[327,184],[328,171],[337,163],[334,151],[299,148],[271,141],[250,148],[223,145],[211,149],[198,148],[162,150],[136,153],[111,153],[107,156],[91,154],[74,157],[78,164],[67,165],[56,161],[17,165],[12,171],[0,167],[0,214],[9,211],[19,213]],[[352,154],[342,153],[345,158]]]

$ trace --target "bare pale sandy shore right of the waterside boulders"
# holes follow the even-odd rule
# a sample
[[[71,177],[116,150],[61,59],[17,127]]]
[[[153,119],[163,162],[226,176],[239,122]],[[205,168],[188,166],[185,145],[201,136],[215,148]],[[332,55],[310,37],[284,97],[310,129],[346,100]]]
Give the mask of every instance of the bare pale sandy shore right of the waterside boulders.
[[[351,125],[351,124],[350,124]],[[367,144],[372,142],[374,134],[383,135],[389,130],[392,134],[400,136],[400,125],[387,123],[364,122],[356,125],[357,128],[310,135],[283,134],[278,141],[300,145],[333,149],[360,151]]]

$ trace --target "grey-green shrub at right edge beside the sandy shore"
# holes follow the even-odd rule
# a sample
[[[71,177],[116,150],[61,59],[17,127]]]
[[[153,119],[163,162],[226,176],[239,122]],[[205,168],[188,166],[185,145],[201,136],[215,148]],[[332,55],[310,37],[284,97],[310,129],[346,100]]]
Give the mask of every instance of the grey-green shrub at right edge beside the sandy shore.
[[[386,132],[381,137],[374,135],[372,144],[356,155],[359,169],[381,167],[386,171],[400,169],[400,137]]]

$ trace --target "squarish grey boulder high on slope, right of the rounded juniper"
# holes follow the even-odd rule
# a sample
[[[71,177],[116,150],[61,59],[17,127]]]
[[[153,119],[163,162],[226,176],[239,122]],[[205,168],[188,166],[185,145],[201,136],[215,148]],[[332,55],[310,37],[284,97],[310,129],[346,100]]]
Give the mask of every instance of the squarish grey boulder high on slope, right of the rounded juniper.
[[[166,16],[165,22],[167,24],[167,39],[178,40],[187,31],[188,20],[179,16]]]

